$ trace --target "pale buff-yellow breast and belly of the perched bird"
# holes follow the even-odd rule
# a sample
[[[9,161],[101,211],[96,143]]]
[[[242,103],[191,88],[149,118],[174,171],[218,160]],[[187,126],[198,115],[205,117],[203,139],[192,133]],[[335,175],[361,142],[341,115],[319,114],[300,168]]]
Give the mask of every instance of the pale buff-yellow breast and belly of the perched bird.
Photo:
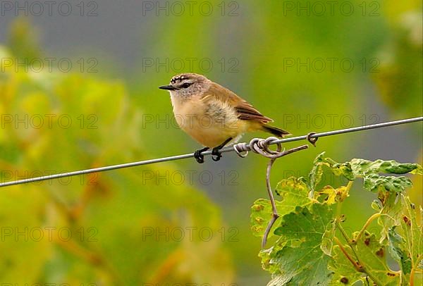
[[[247,131],[245,120],[238,120],[235,109],[221,101],[192,97],[181,101],[171,97],[176,122],[182,130],[206,147],[217,147],[229,137]]]

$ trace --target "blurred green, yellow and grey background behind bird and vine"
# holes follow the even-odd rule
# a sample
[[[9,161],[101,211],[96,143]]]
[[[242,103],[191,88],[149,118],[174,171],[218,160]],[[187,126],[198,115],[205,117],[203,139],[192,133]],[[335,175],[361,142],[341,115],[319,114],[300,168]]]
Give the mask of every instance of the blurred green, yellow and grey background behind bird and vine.
[[[335,2],[71,1],[49,15],[2,1],[1,182],[198,149],[157,89],[177,73],[206,75],[293,135],[422,116],[422,1]],[[422,133],[321,138],[279,159],[272,185],[321,151],[422,163]],[[265,285],[249,218],[265,168],[224,154],[1,188],[0,281]],[[372,199],[351,192],[351,228]]]

